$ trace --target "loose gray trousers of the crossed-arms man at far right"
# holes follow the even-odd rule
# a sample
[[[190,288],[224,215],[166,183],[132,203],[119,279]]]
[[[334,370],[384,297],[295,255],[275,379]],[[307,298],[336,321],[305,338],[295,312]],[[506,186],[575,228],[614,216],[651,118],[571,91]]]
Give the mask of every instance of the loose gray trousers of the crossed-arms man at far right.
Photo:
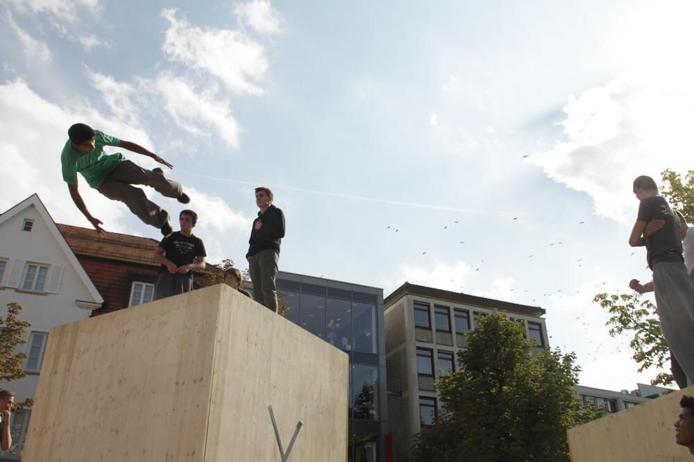
[[[665,339],[688,383],[694,384],[694,284],[684,263],[654,264],[653,287]]]

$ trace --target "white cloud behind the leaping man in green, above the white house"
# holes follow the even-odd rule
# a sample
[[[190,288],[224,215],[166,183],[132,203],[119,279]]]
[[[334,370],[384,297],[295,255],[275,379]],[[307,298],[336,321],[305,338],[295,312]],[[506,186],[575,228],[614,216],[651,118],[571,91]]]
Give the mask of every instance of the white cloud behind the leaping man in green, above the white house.
[[[64,107],[78,109],[72,111]],[[149,142],[142,130],[115,118],[103,117],[84,102],[51,103],[21,79],[0,85],[0,152],[11,173],[3,179],[0,209],[6,210],[37,193],[59,223],[91,227],[72,203],[60,173],[60,152],[67,141],[67,128],[76,121],[85,121],[113,135]],[[106,230],[126,230],[122,220],[130,216],[130,212],[124,205],[101,196],[84,181],[80,182],[79,191],[87,208],[104,222]]]

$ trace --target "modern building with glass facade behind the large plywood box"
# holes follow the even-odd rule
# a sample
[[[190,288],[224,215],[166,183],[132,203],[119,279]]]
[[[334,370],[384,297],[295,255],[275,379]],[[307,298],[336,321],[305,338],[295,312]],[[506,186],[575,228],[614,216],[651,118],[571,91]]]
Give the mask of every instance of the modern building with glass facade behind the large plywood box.
[[[277,291],[286,319],[349,354],[348,461],[384,462],[383,289],[280,271]]]

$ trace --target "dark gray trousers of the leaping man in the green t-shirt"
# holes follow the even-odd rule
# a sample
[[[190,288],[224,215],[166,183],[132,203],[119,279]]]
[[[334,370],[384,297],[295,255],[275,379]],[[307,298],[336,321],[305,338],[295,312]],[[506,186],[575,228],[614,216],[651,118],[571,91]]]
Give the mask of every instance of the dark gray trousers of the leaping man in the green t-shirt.
[[[144,191],[133,185],[153,187],[162,196],[177,198],[183,192],[180,183],[168,180],[164,173],[145,170],[141,166],[126,160],[118,164],[103,180],[99,191],[111,200],[120,200],[128,206],[130,212],[155,228],[161,228],[169,219],[169,212],[162,209],[144,195]]]

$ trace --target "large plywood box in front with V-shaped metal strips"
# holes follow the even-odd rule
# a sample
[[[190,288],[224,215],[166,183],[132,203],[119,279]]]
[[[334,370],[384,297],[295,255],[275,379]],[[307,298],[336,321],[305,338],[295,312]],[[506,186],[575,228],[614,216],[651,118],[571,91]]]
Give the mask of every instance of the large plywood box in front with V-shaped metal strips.
[[[51,330],[23,460],[346,461],[347,354],[220,284]]]

